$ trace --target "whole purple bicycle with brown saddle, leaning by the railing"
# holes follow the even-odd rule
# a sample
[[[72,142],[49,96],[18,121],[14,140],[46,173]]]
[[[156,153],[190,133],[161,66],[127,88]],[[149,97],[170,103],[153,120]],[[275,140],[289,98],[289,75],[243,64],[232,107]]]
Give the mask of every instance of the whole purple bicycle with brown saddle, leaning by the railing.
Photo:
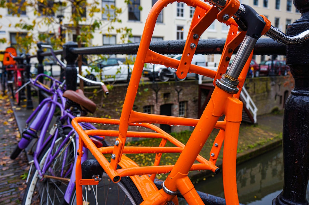
[[[38,81],[42,76],[51,80],[50,87]],[[71,120],[76,116],[85,116],[87,112],[94,113],[96,105],[81,90],[66,90],[65,82],[45,74],[30,79],[29,83],[50,97],[45,98],[27,119],[22,139],[11,154],[11,159],[15,159],[32,140],[36,140],[22,204],[67,204],[75,191],[74,170],[78,147],[78,134]],[[61,114],[49,128],[56,110]],[[83,123],[82,127],[95,129],[90,123]],[[98,147],[108,146],[103,136],[92,136],[92,140]],[[83,160],[86,160],[87,150],[84,149]]]

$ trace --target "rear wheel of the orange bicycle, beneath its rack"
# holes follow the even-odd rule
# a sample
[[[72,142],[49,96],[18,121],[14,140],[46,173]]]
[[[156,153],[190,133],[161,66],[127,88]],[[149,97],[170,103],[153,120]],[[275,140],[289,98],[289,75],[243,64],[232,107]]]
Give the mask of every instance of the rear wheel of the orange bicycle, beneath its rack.
[[[121,167],[118,165],[117,169]],[[143,198],[130,177],[122,177],[114,183],[104,172],[99,185],[83,186],[83,204],[138,205]],[[70,205],[76,205],[76,190]]]

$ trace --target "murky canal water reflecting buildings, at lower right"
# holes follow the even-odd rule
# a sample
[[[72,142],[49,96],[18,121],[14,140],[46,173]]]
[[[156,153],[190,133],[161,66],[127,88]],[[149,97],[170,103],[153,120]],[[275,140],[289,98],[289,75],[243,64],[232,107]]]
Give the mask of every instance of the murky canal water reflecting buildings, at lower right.
[[[283,187],[282,148],[274,149],[237,166],[239,203],[271,204]],[[224,198],[222,174],[195,184],[197,190]],[[309,199],[307,186],[307,199]],[[187,204],[180,202],[181,205]]]

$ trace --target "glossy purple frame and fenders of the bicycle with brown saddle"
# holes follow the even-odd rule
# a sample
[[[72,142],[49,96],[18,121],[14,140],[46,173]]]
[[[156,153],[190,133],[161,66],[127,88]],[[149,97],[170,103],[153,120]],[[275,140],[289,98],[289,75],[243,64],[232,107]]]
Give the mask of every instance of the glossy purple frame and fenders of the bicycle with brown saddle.
[[[40,74],[36,77],[36,79],[40,76],[45,76],[44,74]],[[49,77],[51,78],[51,77]],[[51,78],[53,79],[53,78]],[[54,79],[53,79],[54,80]],[[40,86],[42,87],[42,86]],[[53,85],[52,87],[54,87],[53,90],[47,90],[46,88],[43,90],[49,92],[50,94],[52,94],[51,97],[49,98],[45,98],[40,104],[39,106],[35,109],[35,111],[32,113],[32,115],[30,115],[30,117],[27,119],[26,121],[26,125],[28,125],[32,119],[33,121],[31,122],[31,124],[29,125],[29,128],[31,128],[32,130],[41,130],[40,132],[40,136],[39,139],[37,141],[37,145],[36,145],[36,150],[34,152],[33,155],[33,161],[34,161],[34,165],[36,167],[36,169],[38,170],[39,176],[41,179],[43,179],[44,174],[46,173],[46,171],[48,171],[51,163],[55,160],[55,158],[57,157],[57,155],[60,153],[61,149],[63,147],[66,146],[66,144],[69,142],[70,137],[73,136],[73,132],[75,132],[74,128],[71,125],[71,120],[75,117],[74,115],[72,115],[70,113],[70,110],[65,110],[65,104],[66,104],[66,98],[62,97],[63,92],[61,89],[57,89],[55,87],[55,85]],[[61,103],[58,102],[58,99],[60,99]],[[49,153],[46,157],[46,160],[42,166],[42,168],[40,168],[40,164],[39,164],[39,160],[38,157],[40,156],[40,153],[43,151],[43,149],[45,148],[45,146],[47,145],[47,143],[50,142],[51,140],[51,146],[53,147],[55,145],[55,142],[57,140],[57,136],[58,136],[58,129],[55,130],[54,133],[49,134],[49,136],[46,137],[46,133],[48,131],[49,125],[53,119],[53,115],[55,112],[56,107],[59,107],[61,110],[61,118],[60,120],[65,120],[67,125],[62,126],[62,128],[70,128],[71,131],[69,132],[69,134],[66,136],[66,138],[62,141],[61,145],[58,147],[57,151],[55,153],[51,153],[51,149],[49,150]],[[81,126],[85,129],[96,129],[92,124],[90,123],[83,123],[81,124]],[[102,137],[99,136],[94,136],[97,139],[102,140]],[[78,134],[75,132],[75,148],[78,147]],[[28,140],[26,138],[22,138],[19,143],[18,146],[21,149],[26,148],[29,144],[30,144],[31,140]],[[82,157],[82,162],[85,161],[88,158],[88,152],[86,148],[83,148],[84,154]],[[77,153],[75,153],[77,154]],[[64,163],[65,163],[65,159],[66,159],[66,155],[67,155],[67,149],[65,150],[64,153],[65,157],[64,157],[64,161],[62,162],[62,168],[61,168],[61,176],[63,178],[67,177],[67,175],[64,175]],[[66,170],[66,173],[71,173],[70,176],[70,181],[69,184],[66,188],[66,192],[64,194],[64,199],[67,203],[70,202],[71,199],[71,195],[72,192],[74,190],[75,187],[75,166],[76,166],[76,159],[77,156],[75,156],[75,160],[74,160],[74,164],[71,165],[71,167],[69,168],[69,170]]]

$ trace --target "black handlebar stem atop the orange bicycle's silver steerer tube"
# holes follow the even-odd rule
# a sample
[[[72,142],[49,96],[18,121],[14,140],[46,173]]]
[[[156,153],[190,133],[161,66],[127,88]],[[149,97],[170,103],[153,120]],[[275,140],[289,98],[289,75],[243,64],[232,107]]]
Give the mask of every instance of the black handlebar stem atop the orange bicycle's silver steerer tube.
[[[265,27],[265,21],[251,6],[243,4],[245,11],[238,14],[239,18],[235,18],[239,28],[247,31],[247,36],[251,36],[258,40]]]

